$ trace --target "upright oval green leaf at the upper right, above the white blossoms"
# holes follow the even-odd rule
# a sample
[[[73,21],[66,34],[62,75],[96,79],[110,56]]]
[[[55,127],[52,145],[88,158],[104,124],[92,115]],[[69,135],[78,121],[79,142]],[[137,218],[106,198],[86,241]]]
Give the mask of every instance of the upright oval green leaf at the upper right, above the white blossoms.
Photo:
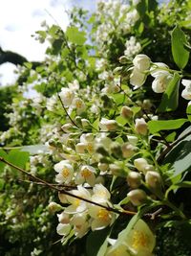
[[[179,26],[176,26],[172,32],[171,43],[174,61],[180,69],[183,69],[188,62],[189,51],[184,47],[184,44],[188,44],[188,42]]]

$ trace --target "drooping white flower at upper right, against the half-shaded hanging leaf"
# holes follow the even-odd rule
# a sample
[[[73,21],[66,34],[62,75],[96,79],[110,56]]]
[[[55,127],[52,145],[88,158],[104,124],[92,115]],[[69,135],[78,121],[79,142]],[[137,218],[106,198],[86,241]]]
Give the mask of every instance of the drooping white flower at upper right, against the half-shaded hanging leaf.
[[[152,75],[154,77],[154,75]],[[160,70],[159,72],[156,71],[155,73],[155,80],[152,82],[152,89],[156,93],[162,93],[166,90],[166,87],[171,81],[173,76],[164,70]]]

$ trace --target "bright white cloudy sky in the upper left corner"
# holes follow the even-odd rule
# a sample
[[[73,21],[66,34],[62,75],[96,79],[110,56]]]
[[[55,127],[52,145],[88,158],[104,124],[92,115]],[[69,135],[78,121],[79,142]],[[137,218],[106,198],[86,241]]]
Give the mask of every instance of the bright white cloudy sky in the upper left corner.
[[[45,58],[47,44],[34,39],[35,31],[42,30],[41,23],[54,24],[55,19],[65,30],[69,24],[66,11],[73,6],[96,10],[96,0],[0,0],[0,46],[16,52],[30,61]],[[0,65],[0,85],[15,81],[15,66]]]

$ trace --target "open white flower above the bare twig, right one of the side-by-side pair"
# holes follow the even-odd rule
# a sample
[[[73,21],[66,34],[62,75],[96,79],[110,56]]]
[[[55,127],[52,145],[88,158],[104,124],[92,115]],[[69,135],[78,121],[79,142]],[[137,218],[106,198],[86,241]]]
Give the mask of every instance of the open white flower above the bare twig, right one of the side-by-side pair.
[[[96,169],[89,165],[84,165],[81,167],[79,174],[75,177],[75,182],[77,184],[82,184],[87,182],[90,186],[95,185],[96,181]]]

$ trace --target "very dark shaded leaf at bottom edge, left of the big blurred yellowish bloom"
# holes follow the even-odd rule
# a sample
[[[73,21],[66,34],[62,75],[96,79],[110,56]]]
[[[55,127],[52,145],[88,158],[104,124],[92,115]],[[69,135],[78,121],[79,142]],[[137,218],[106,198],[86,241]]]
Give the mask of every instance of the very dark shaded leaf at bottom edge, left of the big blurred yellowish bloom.
[[[104,244],[109,233],[110,227],[90,233],[86,241],[86,255],[97,256],[100,246]],[[100,251],[99,255],[101,256]]]

